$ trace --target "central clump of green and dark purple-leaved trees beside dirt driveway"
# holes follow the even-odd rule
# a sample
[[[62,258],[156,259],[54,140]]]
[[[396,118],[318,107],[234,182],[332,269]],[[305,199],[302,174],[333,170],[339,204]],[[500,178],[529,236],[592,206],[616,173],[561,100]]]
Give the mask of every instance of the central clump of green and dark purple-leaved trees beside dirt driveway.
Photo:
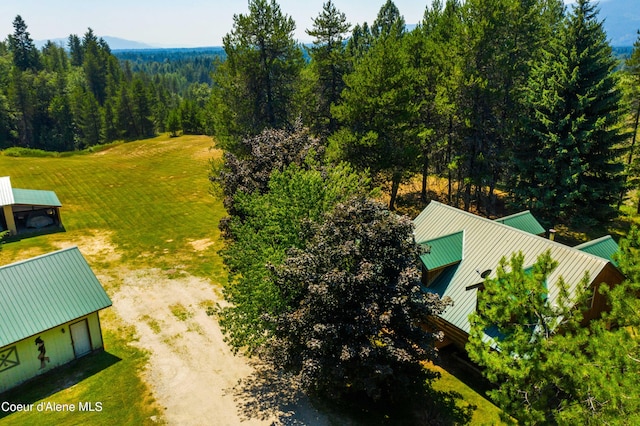
[[[420,289],[411,221],[367,198],[369,179],[348,163],[325,165],[317,143],[301,128],[264,130],[242,142],[245,156],[214,164],[231,213],[220,324],[234,349],[307,392],[424,411],[437,373],[421,363],[435,358],[421,323],[446,304]]]

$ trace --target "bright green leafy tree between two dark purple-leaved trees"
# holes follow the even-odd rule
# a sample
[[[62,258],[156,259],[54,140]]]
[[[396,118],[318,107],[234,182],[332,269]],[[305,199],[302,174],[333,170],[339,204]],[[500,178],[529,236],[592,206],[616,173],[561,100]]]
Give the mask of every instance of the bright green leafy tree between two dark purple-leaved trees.
[[[290,307],[292,296],[275,284],[271,266],[279,265],[288,249],[304,246],[309,222],[368,188],[347,165],[273,170],[268,191],[236,192],[237,214],[224,224],[228,244],[222,254],[230,272],[224,296],[230,306],[220,312],[220,324],[229,343],[249,353],[264,347],[275,328],[273,318]]]

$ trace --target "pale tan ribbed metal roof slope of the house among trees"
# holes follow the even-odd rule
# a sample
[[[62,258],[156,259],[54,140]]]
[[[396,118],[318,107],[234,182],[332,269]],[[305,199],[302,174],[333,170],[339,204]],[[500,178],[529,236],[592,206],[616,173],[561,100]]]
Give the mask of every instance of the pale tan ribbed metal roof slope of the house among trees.
[[[550,303],[555,303],[559,297],[559,277],[563,277],[569,285],[569,293],[574,295],[585,272],[593,280],[609,264],[607,259],[591,253],[436,201],[431,201],[413,222],[417,242],[429,243],[464,230],[464,258],[456,268],[443,271],[432,283],[430,291],[453,300],[453,305],[439,316],[466,333],[470,330],[469,315],[477,306],[476,285],[482,282],[484,271],[491,270],[489,276],[495,276],[502,257],[509,258],[512,253],[522,252],[525,264],[533,264],[540,254],[550,250],[551,257],[558,262],[558,267],[547,278]],[[436,249],[434,244],[434,255]],[[429,255],[423,255],[426,256]]]

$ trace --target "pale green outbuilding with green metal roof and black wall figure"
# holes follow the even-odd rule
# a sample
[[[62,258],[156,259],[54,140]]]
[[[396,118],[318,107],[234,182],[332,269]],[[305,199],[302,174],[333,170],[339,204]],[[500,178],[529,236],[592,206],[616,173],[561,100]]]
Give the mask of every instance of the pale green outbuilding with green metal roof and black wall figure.
[[[111,299],[77,247],[0,267],[0,393],[103,348]]]

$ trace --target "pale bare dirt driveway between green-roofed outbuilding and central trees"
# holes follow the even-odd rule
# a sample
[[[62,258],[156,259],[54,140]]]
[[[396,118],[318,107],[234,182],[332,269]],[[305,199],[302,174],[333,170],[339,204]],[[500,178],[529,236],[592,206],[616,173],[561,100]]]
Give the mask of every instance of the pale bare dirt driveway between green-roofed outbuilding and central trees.
[[[245,357],[231,352],[210,316],[208,308],[220,300],[209,281],[171,279],[159,269],[118,274],[113,309],[135,326],[139,340],[133,344],[150,354],[143,378],[169,424],[328,424],[305,401],[282,410],[251,405],[260,395],[251,395],[239,383],[251,382],[255,370]]]

